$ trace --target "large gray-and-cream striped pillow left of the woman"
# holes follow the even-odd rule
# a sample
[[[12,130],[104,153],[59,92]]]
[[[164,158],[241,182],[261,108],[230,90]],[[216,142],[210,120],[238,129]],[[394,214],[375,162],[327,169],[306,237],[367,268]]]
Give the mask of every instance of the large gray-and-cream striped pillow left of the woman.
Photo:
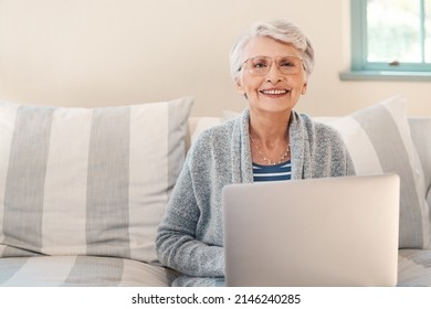
[[[0,104],[0,256],[155,262],[192,98],[105,108]]]

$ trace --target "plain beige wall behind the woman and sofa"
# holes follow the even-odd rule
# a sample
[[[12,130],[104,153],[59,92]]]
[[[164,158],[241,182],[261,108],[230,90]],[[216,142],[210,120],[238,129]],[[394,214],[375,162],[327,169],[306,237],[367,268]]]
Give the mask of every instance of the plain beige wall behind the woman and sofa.
[[[245,106],[229,75],[234,40],[257,20],[308,34],[316,67],[298,106],[345,115],[406,93],[431,115],[430,83],[341,82],[349,0],[0,0],[0,99],[107,106],[195,96],[193,115]]]

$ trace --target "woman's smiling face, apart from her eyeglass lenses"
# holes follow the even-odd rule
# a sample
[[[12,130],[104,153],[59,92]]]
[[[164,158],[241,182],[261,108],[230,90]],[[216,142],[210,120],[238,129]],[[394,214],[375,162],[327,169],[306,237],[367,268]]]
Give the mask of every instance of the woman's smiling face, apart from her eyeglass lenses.
[[[272,60],[267,73],[255,75],[250,72],[249,61],[243,64],[236,87],[240,94],[245,95],[250,109],[256,111],[291,113],[307,87],[306,75],[301,66],[294,74],[283,73],[278,60],[285,56],[301,57],[299,51],[290,44],[277,42],[267,36],[252,39],[244,49],[244,60],[265,56]]]

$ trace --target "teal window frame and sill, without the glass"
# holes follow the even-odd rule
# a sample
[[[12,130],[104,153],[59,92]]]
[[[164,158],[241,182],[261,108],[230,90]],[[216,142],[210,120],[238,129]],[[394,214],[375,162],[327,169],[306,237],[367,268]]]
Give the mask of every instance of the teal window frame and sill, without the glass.
[[[421,3],[421,63],[368,62],[367,0],[350,0],[351,68],[340,73],[340,79],[407,79],[431,81],[431,64],[424,61],[424,0]]]

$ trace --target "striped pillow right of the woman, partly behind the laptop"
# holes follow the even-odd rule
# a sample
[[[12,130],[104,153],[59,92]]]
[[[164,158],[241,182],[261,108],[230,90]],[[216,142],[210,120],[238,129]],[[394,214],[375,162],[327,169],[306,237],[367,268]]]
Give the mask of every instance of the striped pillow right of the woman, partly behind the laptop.
[[[407,120],[407,98],[393,96],[334,122],[357,174],[397,173],[401,179],[400,248],[427,248],[430,220],[422,166]]]

